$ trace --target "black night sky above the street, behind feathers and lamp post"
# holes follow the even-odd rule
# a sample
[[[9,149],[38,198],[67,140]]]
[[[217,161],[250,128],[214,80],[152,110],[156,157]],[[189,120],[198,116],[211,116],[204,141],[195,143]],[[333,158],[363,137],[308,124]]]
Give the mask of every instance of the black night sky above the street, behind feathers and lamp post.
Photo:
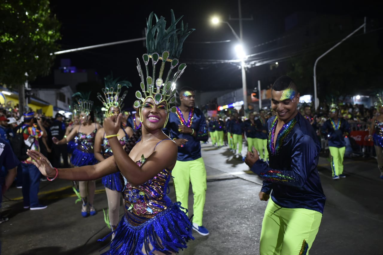
[[[86,3],[85,3],[86,2]],[[291,3],[293,2],[293,3]],[[265,51],[269,45],[259,44],[278,38],[284,31],[284,19],[295,11],[316,13],[352,14],[376,12],[368,4],[358,6],[345,1],[255,1],[242,0],[243,38],[248,54]],[[146,19],[154,11],[170,23],[170,9],[175,17],[183,15],[184,23],[196,30],[183,45],[180,62],[201,62],[203,59],[235,59],[233,51],[236,38],[226,24],[210,25],[216,14],[229,21],[239,35],[237,0],[194,0],[194,1],[51,1],[51,11],[61,21],[61,48],[72,49],[95,44],[110,43],[143,37]],[[231,40],[228,43],[206,43]],[[79,69],[95,69],[101,78],[113,72],[114,77],[129,80],[137,89],[140,79],[136,69],[136,58],[146,53],[143,42],[119,44],[57,56],[53,69],[58,68],[60,59],[69,58]],[[257,67],[254,67],[257,68]],[[250,69],[251,70],[251,69]],[[219,90],[241,88],[241,70],[233,64],[188,64],[177,87],[190,86],[197,90]],[[134,97],[134,93],[129,93]]]

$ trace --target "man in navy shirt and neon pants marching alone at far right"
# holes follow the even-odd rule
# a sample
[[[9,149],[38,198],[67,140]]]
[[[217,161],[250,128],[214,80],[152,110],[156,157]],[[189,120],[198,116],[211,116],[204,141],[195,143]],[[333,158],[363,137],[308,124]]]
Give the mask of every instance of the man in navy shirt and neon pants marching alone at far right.
[[[333,180],[346,177],[343,173],[343,158],[346,151],[344,138],[351,132],[349,123],[344,118],[338,118],[338,114],[338,106],[332,104],[330,106],[330,118],[322,125],[322,134],[329,143]]]

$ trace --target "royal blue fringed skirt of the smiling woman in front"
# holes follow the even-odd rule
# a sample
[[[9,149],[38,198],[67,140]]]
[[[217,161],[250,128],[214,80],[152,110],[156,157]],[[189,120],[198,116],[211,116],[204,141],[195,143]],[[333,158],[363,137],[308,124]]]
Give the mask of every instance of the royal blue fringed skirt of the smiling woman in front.
[[[186,243],[189,240],[194,240],[191,230],[191,223],[180,209],[180,203],[172,204],[139,226],[132,226],[124,215],[118,224],[110,250],[102,255],[152,255],[154,251],[178,253],[179,249],[187,248]],[[101,241],[105,239],[106,237]]]

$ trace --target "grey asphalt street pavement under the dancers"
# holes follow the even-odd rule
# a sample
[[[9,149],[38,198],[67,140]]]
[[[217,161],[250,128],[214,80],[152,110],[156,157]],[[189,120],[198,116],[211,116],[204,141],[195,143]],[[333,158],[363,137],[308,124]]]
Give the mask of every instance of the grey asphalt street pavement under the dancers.
[[[259,254],[267,203],[258,198],[262,180],[241,159],[233,158],[227,146],[218,149],[202,144],[202,156],[208,180],[203,225],[210,235],[193,230],[195,240],[180,254]],[[345,159],[347,178],[332,180],[327,157],[323,153],[318,165],[327,200],[310,255],[383,255],[383,180],[379,179],[376,159]],[[169,187],[169,196],[175,201],[171,183]],[[103,216],[108,204],[101,180],[96,181],[95,216],[81,217],[81,204],[75,204],[71,181],[42,181],[39,198],[48,207],[30,211],[23,209],[20,189],[11,187],[3,197],[2,214],[9,217],[0,225],[3,255],[106,252],[110,237],[98,241],[109,233]],[[193,214],[192,204],[190,185],[189,216]]]

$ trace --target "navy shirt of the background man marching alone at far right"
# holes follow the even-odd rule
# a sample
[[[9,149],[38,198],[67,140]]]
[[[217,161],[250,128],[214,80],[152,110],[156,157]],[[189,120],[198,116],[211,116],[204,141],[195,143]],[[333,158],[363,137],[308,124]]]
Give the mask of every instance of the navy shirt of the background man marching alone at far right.
[[[332,119],[327,119],[322,126],[322,134],[329,142],[329,146],[331,147],[345,147],[346,142],[344,141],[344,133],[350,134],[350,124],[344,118],[339,118],[337,123],[334,123],[332,126]]]

